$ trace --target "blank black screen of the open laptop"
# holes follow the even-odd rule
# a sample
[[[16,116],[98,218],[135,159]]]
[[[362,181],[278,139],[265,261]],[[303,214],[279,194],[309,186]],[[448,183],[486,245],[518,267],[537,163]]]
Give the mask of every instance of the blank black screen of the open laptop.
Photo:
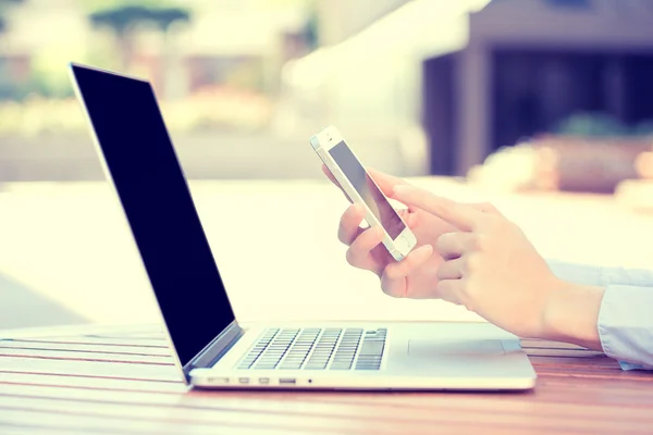
[[[234,313],[153,90],[147,82],[78,65],[73,73],[186,365],[232,323]]]

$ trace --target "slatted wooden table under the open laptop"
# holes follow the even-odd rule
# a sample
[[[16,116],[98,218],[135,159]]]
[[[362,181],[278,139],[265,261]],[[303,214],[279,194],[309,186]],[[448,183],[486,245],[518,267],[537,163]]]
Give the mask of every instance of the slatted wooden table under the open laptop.
[[[206,391],[156,326],[0,337],[1,434],[653,433],[653,375],[555,343],[522,343],[529,393]]]

